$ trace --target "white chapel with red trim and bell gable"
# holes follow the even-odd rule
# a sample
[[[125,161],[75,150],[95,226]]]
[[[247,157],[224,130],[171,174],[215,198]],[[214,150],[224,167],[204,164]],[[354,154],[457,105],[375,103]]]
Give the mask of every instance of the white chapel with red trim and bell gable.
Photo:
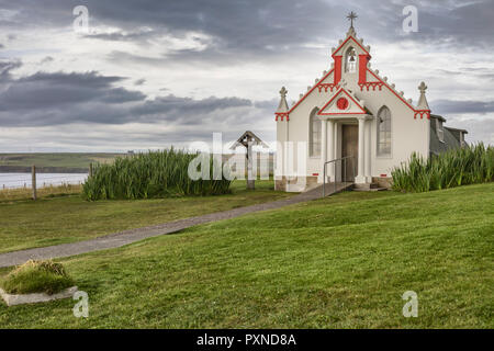
[[[448,128],[431,114],[427,86],[412,100],[370,66],[370,46],[357,36],[356,15],[345,39],[332,49],[334,63],[289,107],[287,89],[276,111],[276,189],[304,191],[326,181],[358,188],[388,186],[391,170],[413,152],[431,157],[464,145],[467,131]]]

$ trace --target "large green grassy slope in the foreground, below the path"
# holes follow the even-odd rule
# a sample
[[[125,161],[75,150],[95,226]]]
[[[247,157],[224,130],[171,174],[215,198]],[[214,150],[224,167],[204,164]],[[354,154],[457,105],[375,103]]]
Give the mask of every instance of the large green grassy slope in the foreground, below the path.
[[[344,193],[75,257],[88,319],[0,304],[0,326],[492,328],[493,193]]]

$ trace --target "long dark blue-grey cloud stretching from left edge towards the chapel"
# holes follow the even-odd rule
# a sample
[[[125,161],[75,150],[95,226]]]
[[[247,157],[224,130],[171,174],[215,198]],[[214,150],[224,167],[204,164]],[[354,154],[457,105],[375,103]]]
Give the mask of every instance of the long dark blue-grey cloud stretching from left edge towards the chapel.
[[[0,61],[0,125],[49,126],[70,123],[188,124],[198,129],[204,125],[254,122],[246,116],[270,115],[254,107],[250,100],[215,98],[202,100],[173,95],[146,100],[138,91],[114,88],[125,78],[98,72],[37,72],[12,79],[10,71],[19,61]],[[2,78],[3,77],[3,78]]]

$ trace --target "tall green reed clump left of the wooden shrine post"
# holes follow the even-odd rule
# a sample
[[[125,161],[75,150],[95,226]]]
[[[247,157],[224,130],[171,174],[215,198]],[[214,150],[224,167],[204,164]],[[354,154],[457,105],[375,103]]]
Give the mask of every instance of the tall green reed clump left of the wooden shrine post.
[[[89,201],[111,199],[151,199],[182,195],[216,195],[229,192],[231,181],[222,176],[213,180],[192,180],[189,163],[197,154],[175,148],[119,157],[111,165],[98,163],[82,185],[82,197]]]

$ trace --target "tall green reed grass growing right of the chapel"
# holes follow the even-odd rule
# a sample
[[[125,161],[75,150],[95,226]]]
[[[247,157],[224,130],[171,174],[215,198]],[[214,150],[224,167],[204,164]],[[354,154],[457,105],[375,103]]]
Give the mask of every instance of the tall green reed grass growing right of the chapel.
[[[393,189],[426,192],[494,181],[494,147],[482,143],[451,149],[425,160],[413,154],[409,161],[391,172]]]

